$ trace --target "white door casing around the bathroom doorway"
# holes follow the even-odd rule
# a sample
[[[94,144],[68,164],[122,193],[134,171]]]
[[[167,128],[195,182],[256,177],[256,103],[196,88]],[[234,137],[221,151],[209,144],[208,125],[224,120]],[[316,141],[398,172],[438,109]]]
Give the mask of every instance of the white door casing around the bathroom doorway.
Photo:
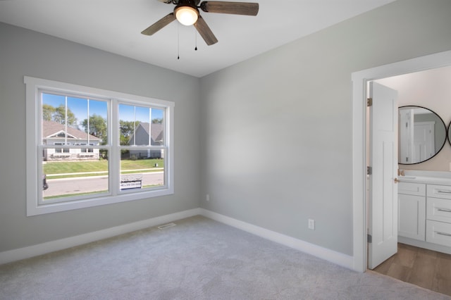
[[[353,269],[366,270],[366,85],[371,80],[451,65],[451,51],[352,73]]]

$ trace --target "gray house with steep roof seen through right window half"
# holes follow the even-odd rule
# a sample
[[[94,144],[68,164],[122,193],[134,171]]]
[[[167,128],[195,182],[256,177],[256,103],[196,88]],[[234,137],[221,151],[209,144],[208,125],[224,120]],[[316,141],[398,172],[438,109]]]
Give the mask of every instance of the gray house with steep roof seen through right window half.
[[[140,123],[128,144],[130,146],[161,146],[163,144],[163,124]],[[130,150],[130,157],[133,156],[136,158],[163,158],[163,150]]]

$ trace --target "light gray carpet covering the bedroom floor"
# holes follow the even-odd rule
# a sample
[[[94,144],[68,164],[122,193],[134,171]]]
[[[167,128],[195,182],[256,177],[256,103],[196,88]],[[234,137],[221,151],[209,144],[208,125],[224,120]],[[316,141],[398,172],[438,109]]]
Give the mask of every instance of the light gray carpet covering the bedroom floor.
[[[195,216],[0,265],[0,299],[451,299]]]

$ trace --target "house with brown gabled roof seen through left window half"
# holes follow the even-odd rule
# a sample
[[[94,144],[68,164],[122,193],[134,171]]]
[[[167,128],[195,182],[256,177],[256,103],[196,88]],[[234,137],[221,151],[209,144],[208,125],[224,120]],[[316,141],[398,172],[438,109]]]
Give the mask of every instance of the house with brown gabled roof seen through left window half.
[[[67,135],[66,135],[67,133]],[[82,130],[67,127],[60,123],[42,121],[42,143],[47,145],[74,145],[97,146],[101,139],[88,135]],[[70,148],[70,149],[44,149],[44,161],[75,161],[99,159],[99,149]]]

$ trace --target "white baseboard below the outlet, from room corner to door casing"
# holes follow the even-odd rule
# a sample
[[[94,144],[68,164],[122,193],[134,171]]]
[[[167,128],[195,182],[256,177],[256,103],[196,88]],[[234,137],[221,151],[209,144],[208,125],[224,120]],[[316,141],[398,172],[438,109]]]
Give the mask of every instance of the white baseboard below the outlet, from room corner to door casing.
[[[252,233],[253,235],[263,237],[264,239],[269,239],[270,241],[276,242],[278,244],[289,246],[290,248],[297,249],[318,258],[322,258],[325,261],[330,261],[331,263],[335,263],[336,265],[341,265],[342,267],[351,270],[353,270],[354,268],[354,257],[352,256],[326,249],[315,244],[310,244],[300,239],[289,237],[288,235],[282,235],[278,232],[267,230],[263,227],[245,223],[240,220],[227,217],[226,215],[220,215],[219,213],[214,213],[213,211],[208,211],[204,208],[200,208],[200,210],[200,214],[204,215],[204,217],[206,218],[211,218],[212,220],[216,220],[218,222],[236,227],[240,230],[244,230],[246,232]]]

